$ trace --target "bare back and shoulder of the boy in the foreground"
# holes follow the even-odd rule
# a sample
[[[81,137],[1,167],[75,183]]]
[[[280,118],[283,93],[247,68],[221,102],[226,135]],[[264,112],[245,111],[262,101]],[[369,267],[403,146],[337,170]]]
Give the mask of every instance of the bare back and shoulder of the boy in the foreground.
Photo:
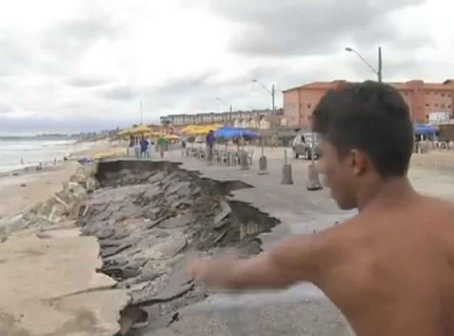
[[[454,207],[423,196],[364,211],[331,235],[317,285],[359,335],[454,335],[453,228]]]

